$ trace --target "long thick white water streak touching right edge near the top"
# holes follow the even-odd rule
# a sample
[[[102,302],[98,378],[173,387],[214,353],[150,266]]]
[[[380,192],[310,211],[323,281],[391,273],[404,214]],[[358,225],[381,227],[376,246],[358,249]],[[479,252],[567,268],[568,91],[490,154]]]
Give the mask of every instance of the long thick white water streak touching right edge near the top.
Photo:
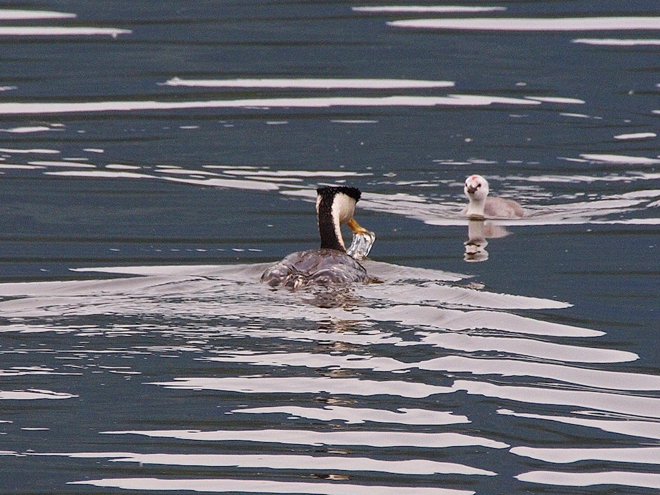
[[[660,30],[660,17],[564,17],[497,19],[412,19],[391,21],[397,28],[485,31]]]

